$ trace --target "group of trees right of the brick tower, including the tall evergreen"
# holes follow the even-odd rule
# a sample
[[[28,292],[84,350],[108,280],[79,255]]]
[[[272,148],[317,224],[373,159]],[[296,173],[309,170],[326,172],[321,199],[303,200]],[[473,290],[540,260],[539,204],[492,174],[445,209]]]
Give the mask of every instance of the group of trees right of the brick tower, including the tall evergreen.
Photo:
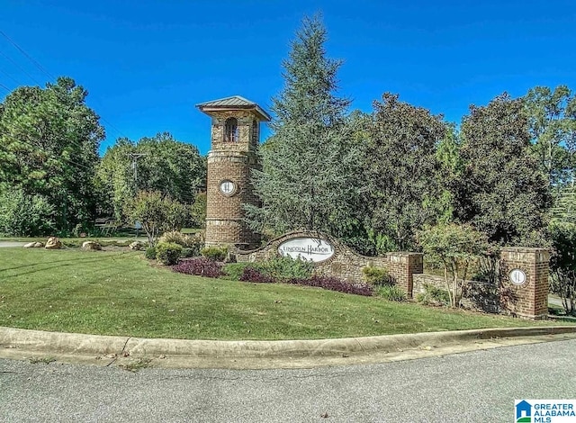
[[[574,312],[570,88],[502,93],[471,105],[458,124],[393,93],[371,112],[349,112],[327,37],[320,19],[306,18],[284,60],[273,135],[254,174],[263,206],[247,207],[251,227],[268,237],[319,230],[367,256],[424,250],[452,272],[455,288],[482,253],[493,265],[503,246],[554,247],[554,290]]]

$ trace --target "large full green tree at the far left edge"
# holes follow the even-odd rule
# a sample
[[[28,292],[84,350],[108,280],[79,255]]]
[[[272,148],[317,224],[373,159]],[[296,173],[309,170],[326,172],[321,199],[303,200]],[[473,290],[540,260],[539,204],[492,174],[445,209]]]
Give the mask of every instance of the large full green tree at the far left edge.
[[[0,191],[22,190],[54,209],[56,229],[91,220],[94,171],[104,137],[87,91],[69,77],[21,86],[0,104]]]

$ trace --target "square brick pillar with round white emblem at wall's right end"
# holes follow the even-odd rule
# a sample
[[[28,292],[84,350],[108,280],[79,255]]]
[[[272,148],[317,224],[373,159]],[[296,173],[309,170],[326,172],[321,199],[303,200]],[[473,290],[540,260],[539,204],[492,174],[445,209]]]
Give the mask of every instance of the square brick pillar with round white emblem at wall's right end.
[[[500,307],[527,319],[548,314],[550,254],[545,248],[506,247],[500,255]]]

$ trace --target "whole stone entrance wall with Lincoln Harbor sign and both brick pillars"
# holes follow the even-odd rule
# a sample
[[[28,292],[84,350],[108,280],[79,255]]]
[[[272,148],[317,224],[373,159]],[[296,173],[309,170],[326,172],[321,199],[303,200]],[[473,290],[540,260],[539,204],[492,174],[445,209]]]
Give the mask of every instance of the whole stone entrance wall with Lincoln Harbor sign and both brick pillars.
[[[409,298],[424,293],[425,284],[446,289],[444,277],[423,273],[420,253],[392,252],[382,257],[365,257],[319,232],[299,231],[275,238],[265,247],[251,251],[236,249],[238,262],[258,262],[278,256],[302,257],[314,262],[317,275],[335,276],[350,283],[364,282],[366,266],[388,269],[392,282]],[[542,319],[548,312],[549,253],[543,248],[503,248],[500,283],[466,281],[464,307],[491,313],[509,313]]]

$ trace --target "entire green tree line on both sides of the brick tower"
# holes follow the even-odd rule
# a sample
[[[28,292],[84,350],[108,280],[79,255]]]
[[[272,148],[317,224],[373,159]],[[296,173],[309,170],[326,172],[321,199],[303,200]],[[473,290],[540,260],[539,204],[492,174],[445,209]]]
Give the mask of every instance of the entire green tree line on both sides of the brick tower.
[[[477,231],[486,249],[563,248],[558,277],[574,279],[576,96],[568,86],[500,94],[458,123],[387,92],[372,111],[350,111],[338,94],[342,61],[327,57],[327,39],[320,19],[306,18],[284,60],[273,135],[253,175],[263,206],[247,207],[253,229],[265,238],[320,230],[376,255],[422,250],[439,239],[423,231],[446,228],[454,239],[454,225],[467,225],[463,234]],[[99,157],[104,129],[86,96],[59,77],[0,103],[0,233],[68,234],[103,216],[133,224],[134,199],[170,209],[163,220],[173,225],[202,225],[198,149],[165,132],[117,139]]]

